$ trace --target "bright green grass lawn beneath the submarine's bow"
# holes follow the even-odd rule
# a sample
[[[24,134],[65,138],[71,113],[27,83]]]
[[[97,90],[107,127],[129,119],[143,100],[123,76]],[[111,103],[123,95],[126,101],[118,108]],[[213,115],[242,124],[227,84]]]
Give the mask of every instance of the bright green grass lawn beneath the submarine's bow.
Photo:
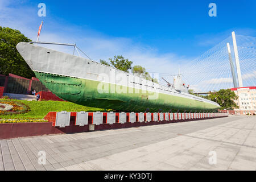
[[[0,101],[19,101],[30,107],[30,111],[24,114],[0,115],[0,118],[38,118],[42,119],[50,111],[104,111],[94,107],[86,107],[74,104],[72,102],[61,101],[23,101],[23,100],[5,100]]]

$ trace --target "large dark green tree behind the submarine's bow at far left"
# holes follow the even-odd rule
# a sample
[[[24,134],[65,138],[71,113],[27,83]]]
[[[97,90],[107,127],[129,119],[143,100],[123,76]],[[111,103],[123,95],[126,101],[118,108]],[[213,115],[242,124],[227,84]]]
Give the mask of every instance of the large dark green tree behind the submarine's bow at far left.
[[[20,31],[0,26],[0,74],[13,73],[26,78],[35,76],[16,49],[16,44],[19,42],[30,41]]]

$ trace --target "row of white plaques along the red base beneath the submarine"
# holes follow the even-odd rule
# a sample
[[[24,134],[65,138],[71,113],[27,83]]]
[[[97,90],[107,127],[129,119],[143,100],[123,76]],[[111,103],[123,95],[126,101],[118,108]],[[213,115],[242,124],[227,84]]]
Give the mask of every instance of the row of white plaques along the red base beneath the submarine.
[[[152,121],[165,121],[170,120],[180,120],[180,119],[198,119],[198,118],[213,118],[213,117],[224,117],[227,116],[228,113],[153,113],[153,117],[151,118],[151,113],[146,113],[146,121],[144,121],[144,113],[138,113],[138,122],[150,122]],[[65,127],[69,126],[71,117],[71,112],[61,111],[56,114],[56,122],[55,126]],[[115,113],[110,112],[107,113],[106,121],[108,124],[112,125],[115,123]],[[126,122],[126,113],[119,113],[119,123]],[[129,122],[136,122],[136,114],[129,113]],[[94,112],[93,113],[93,121],[94,125],[100,125],[103,123],[103,113]],[[88,125],[88,112],[80,111],[76,114],[76,125],[84,126]]]

